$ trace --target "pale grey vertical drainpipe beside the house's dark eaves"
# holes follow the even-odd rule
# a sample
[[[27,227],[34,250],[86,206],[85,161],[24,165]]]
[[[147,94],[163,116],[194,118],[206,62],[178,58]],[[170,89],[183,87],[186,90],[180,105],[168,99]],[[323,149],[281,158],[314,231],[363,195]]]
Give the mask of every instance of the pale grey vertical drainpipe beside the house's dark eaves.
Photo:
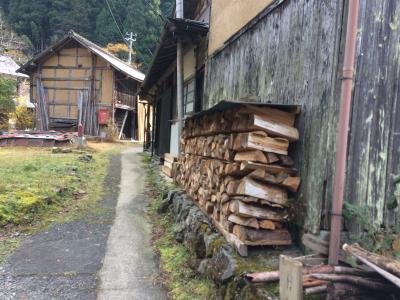
[[[176,0],[176,18],[183,19],[183,0]],[[183,40],[178,36],[176,45],[176,107],[178,108],[178,153],[181,153],[181,134],[183,128]]]

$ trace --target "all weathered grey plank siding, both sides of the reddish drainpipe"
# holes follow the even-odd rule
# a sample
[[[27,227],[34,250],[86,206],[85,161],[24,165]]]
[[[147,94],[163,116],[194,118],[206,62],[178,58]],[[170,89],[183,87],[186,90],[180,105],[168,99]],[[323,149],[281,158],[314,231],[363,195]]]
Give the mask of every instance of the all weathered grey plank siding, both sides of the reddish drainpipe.
[[[283,1],[206,66],[205,108],[245,99],[302,105],[301,137],[291,151],[303,180],[299,225],[314,233],[329,226],[344,3]],[[346,201],[368,205],[374,224],[390,227],[399,221],[399,209],[387,206],[400,174],[400,2],[360,3]]]

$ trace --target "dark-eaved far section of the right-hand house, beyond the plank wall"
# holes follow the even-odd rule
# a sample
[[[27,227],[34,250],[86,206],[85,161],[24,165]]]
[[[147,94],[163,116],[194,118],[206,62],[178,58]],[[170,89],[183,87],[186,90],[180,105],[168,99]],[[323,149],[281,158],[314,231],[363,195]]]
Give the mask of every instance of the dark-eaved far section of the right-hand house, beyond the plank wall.
[[[207,49],[210,1],[185,1],[187,19],[168,18],[160,44],[143,82],[141,96],[153,102],[154,150],[178,155],[178,122],[176,109],[176,43],[184,40],[184,97],[185,115],[201,110],[205,56]]]

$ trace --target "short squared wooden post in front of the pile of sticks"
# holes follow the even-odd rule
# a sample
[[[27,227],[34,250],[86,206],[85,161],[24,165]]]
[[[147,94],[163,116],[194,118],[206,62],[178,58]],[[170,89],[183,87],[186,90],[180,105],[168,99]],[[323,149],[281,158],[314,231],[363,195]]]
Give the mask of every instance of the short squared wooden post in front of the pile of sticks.
[[[279,256],[279,298],[303,300],[303,264],[286,255]]]

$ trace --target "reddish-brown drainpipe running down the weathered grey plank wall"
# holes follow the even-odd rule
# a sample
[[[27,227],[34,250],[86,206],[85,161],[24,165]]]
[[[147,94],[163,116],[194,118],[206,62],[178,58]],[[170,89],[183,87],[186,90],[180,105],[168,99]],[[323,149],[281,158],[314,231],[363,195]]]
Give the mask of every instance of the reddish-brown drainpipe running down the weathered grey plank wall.
[[[333,185],[331,234],[329,241],[329,264],[337,265],[339,261],[340,233],[344,185],[346,179],[347,140],[351,112],[351,93],[353,88],[354,56],[356,51],[357,21],[359,0],[349,0],[344,52],[342,88],[340,98],[339,124],[336,136],[336,170]]]

